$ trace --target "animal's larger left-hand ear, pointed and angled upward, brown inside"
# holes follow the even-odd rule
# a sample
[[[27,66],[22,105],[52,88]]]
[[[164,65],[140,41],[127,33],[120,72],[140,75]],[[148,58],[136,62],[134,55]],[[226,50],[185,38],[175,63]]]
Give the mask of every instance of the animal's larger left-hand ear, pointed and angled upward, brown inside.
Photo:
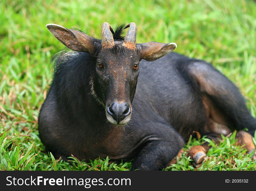
[[[93,54],[97,45],[100,44],[100,40],[80,31],[68,29],[57,24],[47,24],[46,27],[65,46],[75,51]]]

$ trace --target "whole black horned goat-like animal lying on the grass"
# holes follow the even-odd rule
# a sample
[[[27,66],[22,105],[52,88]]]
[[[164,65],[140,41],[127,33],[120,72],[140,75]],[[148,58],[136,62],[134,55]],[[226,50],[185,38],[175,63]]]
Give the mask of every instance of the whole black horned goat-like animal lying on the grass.
[[[74,50],[56,58],[39,115],[40,138],[56,158],[134,158],[132,169],[161,170],[193,131],[216,140],[237,130],[239,143],[254,152],[256,120],[238,88],[209,63],[170,53],[175,43],[136,44],[133,22],[115,31],[103,23],[101,40],[47,28]],[[189,154],[199,164],[207,149]]]

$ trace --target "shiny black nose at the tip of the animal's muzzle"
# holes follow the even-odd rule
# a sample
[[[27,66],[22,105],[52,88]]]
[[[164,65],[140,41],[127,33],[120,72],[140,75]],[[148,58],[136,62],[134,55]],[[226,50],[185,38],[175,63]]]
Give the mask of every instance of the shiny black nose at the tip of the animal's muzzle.
[[[122,103],[115,102],[111,106],[107,107],[107,112],[119,124],[120,121],[125,119],[125,117],[131,113],[131,107],[129,107],[124,102]]]

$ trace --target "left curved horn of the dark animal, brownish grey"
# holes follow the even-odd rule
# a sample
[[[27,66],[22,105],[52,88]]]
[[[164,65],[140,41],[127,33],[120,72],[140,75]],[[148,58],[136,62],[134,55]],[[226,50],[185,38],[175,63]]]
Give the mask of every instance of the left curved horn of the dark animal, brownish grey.
[[[112,48],[115,45],[112,33],[114,33],[110,24],[104,22],[101,27],[101,46],[102,50],[106,48]]]

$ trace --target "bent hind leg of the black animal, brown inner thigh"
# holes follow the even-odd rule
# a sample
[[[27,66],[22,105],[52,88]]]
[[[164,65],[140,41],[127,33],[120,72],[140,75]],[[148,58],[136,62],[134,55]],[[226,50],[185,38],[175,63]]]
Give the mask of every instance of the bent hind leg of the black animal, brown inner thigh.
[[[210,64],[193,61],[188,65],[188,76],[195,90],[200,91],[207,117],[213,121],[240,131],[248,128],[254,134],[256,119],[246,107],[239,89]]]

